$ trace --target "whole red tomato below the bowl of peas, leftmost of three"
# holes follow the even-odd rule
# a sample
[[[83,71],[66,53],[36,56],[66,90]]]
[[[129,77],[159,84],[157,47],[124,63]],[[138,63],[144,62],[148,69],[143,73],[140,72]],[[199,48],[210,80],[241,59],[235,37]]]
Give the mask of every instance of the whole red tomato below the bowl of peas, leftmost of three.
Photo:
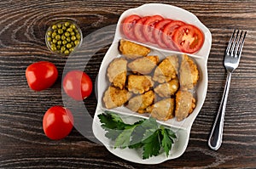
[[[48,61],[40,61],[26,68],[26,81],[35,91],[51,87],[58,77],[55,65]]]

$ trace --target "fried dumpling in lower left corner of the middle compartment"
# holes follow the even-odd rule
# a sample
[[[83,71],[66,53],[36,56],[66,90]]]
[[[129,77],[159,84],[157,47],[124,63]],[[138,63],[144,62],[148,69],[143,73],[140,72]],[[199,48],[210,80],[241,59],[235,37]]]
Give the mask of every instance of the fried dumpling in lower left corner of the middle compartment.
[[[107,109],[113,109],[125,104],[130,98],[131,93],[126,89],[108,87],[108,90],[104,93],[103,102]]]

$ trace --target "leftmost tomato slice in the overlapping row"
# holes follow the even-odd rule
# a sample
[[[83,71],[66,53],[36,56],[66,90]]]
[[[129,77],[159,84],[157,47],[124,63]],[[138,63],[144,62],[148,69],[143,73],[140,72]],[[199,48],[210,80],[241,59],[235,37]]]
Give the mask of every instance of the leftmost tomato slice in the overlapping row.
[[[126,17],[123,24],[123,33],[125,34],[125,37],[128,37],[131,40],[137,40],[134,35],[134,25],[136,25],[137,21],[140,20],[141,17],[137,14],[131,14],[130,16]]]

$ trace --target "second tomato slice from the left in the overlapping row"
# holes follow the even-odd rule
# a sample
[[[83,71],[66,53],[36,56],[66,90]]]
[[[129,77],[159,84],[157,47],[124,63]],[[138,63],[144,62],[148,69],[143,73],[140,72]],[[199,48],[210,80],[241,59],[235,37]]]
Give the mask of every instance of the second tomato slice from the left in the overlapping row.
[[[148,20],[148,18],[150,18],[150,16],[144,16],[143,18],[137,21],[136,25],[134,25],[133,31],[138,42],[147,42],[147,39],[144,37],[143,34],[143,25],[145,21]]]

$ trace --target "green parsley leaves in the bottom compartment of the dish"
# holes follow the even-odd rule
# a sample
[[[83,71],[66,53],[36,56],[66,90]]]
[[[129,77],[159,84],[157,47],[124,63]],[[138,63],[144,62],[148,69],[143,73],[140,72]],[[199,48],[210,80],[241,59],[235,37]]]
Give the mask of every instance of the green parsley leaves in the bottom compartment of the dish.
[[[107,131],[105,136],[114,141],[114,149],[143,149],[143,159],[159,155],[162,149],[168,156],[176,138],[175,132],[159,125],[153,117],[134,124],[125,123],[111,111],[98,117],[102,128]]]

